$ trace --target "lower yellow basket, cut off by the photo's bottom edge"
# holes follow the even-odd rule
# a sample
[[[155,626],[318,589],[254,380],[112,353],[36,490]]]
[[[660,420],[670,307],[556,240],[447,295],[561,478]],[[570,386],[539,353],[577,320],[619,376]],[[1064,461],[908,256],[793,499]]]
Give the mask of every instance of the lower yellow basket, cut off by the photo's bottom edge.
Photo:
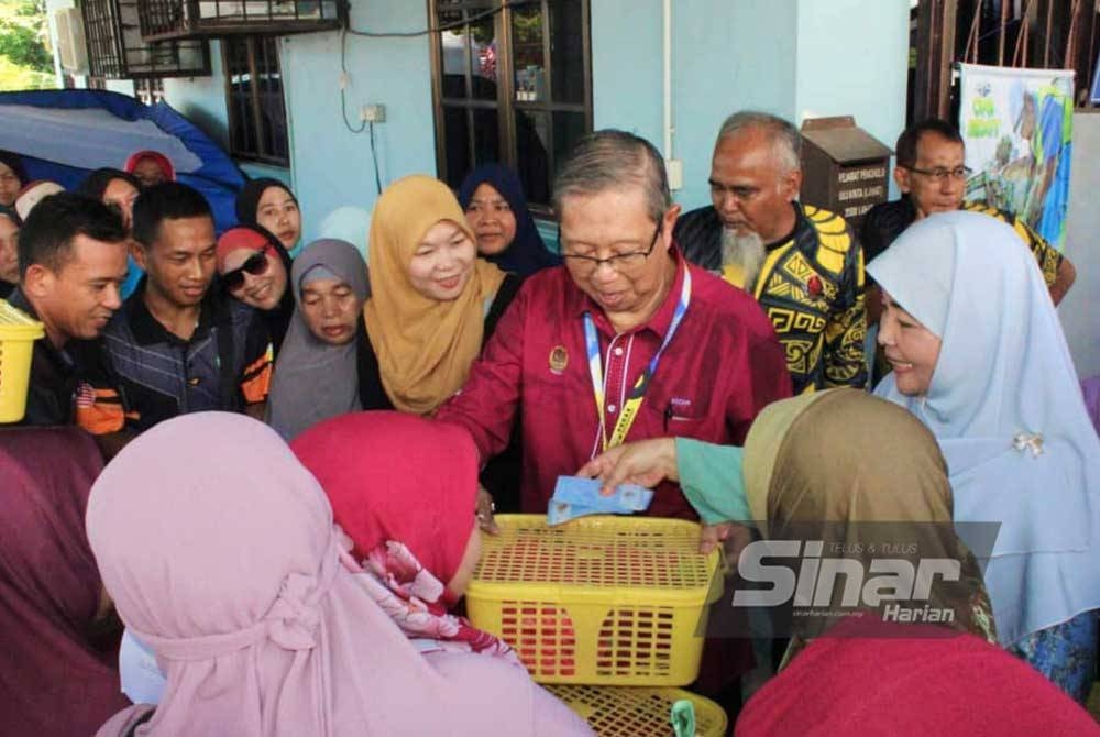
[[[695,706],[695,734],[724,737],[726,712],[708,698],[680,689],[630,689],[609,685],[548,685],[600,737],[673,737],[672,704],[686,698]]]

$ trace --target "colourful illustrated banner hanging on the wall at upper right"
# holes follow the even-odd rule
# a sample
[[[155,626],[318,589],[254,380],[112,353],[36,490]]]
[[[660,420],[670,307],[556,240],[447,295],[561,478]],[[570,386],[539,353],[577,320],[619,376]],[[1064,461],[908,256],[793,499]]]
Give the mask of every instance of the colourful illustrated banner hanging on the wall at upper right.
[[[1071,69],[963,64],[966,198],[1022,218],[1062,249],[1074,128]]]

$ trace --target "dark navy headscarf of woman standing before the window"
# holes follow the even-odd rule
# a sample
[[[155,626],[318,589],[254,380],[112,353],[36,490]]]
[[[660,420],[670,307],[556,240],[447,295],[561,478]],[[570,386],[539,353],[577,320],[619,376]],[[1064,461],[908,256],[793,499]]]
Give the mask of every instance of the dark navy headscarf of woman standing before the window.
[[[516,217],[516,238],[507,249],[501,253],[483,258],[493,262],[502,270],[529,276],[535,272],[548,266],[560,266],[561,257],[547,250],[539,235],[538,228],[535,227],[535,218],[527,209],[527,197],[524,196],[524,187],[519,184],[519,177],[512,169],[499,164],[483,164],[466,175],[462,186],[459,187],[459,205],[465,210],[473,199],[474,190],[483,184],[488,184],[508,202],[512,213]]]

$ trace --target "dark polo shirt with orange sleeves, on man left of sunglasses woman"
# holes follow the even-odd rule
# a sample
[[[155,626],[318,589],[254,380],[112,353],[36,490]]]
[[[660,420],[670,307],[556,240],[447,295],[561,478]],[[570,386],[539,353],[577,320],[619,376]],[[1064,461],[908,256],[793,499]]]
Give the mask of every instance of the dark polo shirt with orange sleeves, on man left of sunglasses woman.
[[[208,295],[189,340],[148,311],[139,285],[103,333],[108,371],[95,382],[96,433],[123,427],[141,432],[177,415],[239,411],[267,398],[272,350],[255,310]]]

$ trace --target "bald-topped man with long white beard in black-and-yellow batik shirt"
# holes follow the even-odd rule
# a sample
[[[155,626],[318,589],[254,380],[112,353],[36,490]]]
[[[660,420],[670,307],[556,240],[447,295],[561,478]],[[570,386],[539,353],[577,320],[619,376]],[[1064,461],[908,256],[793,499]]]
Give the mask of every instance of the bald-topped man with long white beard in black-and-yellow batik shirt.
[[[711,160],[713,205],[676,221],[676,244],[757,298],[787,351],[795,394],[861,388],[862,252],[844,218],[798,201],[801,147],[782,118],[727,118]]]

